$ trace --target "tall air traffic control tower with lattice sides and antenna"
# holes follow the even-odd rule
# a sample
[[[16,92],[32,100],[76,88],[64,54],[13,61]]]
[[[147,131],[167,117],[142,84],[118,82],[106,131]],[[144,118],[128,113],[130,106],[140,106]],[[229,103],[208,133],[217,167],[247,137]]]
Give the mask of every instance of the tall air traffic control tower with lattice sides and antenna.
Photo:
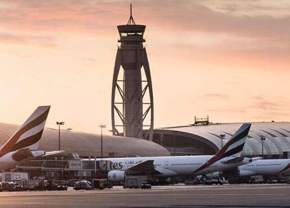
[[[130,6],[128,23],[117,27],[121,45],[117,50],[113,75],[113,135],[152,141],[153,91],[147,53],[143,47],[146,26],[135,24]],[[143,128],[147,130],[143,131]]]

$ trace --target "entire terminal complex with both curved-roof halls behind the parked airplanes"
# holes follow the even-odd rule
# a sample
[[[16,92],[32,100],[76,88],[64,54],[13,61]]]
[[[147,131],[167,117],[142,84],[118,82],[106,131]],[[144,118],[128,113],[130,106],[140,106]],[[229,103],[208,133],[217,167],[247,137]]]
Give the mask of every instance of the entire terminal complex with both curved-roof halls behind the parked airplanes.
[[[212,155],[241,127],[242,123],[215,123],[154,130],[153,142],[102,135],[103,157]],[[18,129],[16,124],[0,123],[0,145]],[[223,138],[223,139],[222,139]],[[39,149],[58,150],[58,129],[45,128]],[[263,146],[263,150],[262,150]],[[101,135],[60,130],[60,150],[64,158],[100,158]],[[284,158],[290,151],[290,122],[254,122],[251,124],[243,155]]]

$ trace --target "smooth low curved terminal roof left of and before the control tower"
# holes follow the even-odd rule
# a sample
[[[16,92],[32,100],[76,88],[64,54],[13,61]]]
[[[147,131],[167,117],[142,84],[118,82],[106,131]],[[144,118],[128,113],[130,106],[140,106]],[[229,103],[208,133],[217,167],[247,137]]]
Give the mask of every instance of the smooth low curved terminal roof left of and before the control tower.
[[[0,123],[0,146],[4,145],[19,128],[15,124]],[[164,147],[147,140],[102,135],[103,157],[168,156]],[[40,150],[58,150],[58,129],[45,128],[39,146]],[[77,153],[80,157],[101,156],[101,135],[74,131],[60,131],[60,149],[64,155]]]

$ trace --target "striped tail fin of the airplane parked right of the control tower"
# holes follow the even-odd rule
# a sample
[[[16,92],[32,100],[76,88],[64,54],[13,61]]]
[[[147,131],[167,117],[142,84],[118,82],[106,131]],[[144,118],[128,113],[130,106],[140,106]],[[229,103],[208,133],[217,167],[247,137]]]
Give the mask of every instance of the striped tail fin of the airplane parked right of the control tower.
[[[247,135],[250,130],[250,123],[244,123],[232,138],[215,154],[219,158],[228,156],[240,157]]]

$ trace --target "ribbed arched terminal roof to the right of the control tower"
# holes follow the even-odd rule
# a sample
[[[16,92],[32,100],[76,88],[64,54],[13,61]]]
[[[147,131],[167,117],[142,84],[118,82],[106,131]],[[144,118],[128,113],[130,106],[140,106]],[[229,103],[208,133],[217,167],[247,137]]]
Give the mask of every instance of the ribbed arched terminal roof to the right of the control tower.
[[[161,133],[175,135],[176,144],[183,147],[188,144],[183,144],[183,139],[180,138],[191,138],[203,144],[205,149],[207,148],[204,153],[216,153],[222,147],[220,135],[225,135],[223,140],[223,144],[225,144],[241,125],[242,123],[221,123],[156,129],[154,137],[156,138]],[[262,155],[262,137],[266,138],[263,141],[264,155],[279,155],[281,157],[283,152],[290,151],[290,122],[252,123],[242,154]]]

